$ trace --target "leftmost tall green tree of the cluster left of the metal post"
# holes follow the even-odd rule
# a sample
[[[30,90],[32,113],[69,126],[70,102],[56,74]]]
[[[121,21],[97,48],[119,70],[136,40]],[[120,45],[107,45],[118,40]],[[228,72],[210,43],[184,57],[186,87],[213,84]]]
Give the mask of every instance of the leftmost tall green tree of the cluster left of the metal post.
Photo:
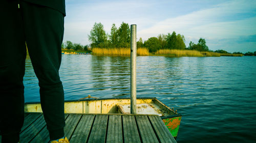
[[[105,47],[107,42],[107,35],[101,23],[94,23],[93,29],[88,35],[89,40],[92,42],[91,47]]]

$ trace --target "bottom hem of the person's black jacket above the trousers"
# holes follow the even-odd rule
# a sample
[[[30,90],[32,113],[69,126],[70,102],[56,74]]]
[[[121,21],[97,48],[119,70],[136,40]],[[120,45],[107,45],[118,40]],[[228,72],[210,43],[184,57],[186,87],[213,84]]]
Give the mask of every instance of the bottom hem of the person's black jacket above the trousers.
[[[65,0],[22,0],[25,2],[46,6],[61,12],[64,16],[66,16],[65,10]]]

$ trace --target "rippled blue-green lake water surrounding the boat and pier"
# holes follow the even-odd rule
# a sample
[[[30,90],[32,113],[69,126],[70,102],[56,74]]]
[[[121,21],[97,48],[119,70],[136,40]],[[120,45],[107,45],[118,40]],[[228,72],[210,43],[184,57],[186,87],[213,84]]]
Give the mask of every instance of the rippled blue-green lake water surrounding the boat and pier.
[[[130,97],[130,57],[62,54],[65,99]],[[39,101],[26,60],[25,102]],[[178,142],[256,142],[256,56],[137,57],[137,97],[182,115]]]

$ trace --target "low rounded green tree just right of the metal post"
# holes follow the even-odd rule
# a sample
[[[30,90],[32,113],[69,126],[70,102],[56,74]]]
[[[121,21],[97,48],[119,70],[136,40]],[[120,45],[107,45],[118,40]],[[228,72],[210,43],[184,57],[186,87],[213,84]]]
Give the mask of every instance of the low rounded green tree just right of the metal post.
[[[148,38],[148,40],[144,42],[144,45],[150,50],[150,52],[156,52],[161,48],[161,44],[156,37]]]

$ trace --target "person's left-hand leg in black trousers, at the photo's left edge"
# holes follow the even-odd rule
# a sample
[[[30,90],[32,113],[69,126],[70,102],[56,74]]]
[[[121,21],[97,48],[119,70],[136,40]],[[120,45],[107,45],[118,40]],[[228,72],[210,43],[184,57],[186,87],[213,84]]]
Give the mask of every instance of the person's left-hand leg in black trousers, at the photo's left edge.
[[[2,143],[18,142],[24,122],[26,45],[17,1],[0,5],[0,130]]]

